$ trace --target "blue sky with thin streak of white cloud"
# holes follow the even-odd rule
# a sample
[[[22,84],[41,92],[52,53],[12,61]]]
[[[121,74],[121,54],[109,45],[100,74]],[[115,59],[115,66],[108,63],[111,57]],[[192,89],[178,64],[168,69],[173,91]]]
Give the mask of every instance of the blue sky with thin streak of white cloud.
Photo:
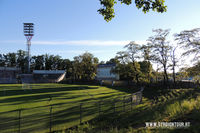
[[[99,0],[0,0],[0,53],[26,50],[23,23],[34,23],[31,55],[53,54],[73,60],[90,52],[100,61],[116,56],[130,41],[145,42],[152,29],[174,33],[200,28],[199,0],[166,0],[167,12],[144,14],[135,4],[115,5],[106,22]]]

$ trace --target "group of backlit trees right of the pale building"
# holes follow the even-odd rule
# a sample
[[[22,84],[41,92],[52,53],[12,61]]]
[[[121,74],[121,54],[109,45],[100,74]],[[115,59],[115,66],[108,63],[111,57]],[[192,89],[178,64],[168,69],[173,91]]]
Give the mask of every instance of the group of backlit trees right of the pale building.
[[[117,53],[114,60],[118,67],[115,72],[136,83],[151,80],[164,81],[164,84],[169,80],[176,83],[176,80],[188,77],[199,80],[200,28],[174,34],[173,40],[168,39],[169,29],[156,29],[153,33],[146,43],[132,41],[124,47],[124,51]],[[193,67],[184,67],[183,64],[190,58]],[[151,64],[157,68],[153,70]],[[176,71],[177,68],[180,69],[179,72]]]

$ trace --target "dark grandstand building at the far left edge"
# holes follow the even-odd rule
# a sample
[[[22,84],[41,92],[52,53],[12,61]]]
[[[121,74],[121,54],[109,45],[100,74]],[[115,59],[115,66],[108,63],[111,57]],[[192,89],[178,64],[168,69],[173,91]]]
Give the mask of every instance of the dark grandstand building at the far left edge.
[[[18,83],[17,76],[20,73],[20,68],[0,67],[0,83]]]

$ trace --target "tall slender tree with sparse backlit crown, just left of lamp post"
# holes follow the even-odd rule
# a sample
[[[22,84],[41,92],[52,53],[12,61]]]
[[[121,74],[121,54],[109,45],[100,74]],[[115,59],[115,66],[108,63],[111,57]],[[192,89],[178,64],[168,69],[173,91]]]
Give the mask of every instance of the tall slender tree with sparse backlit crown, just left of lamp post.
[[[169,41],[166,40],[169,30],[156,29],[153,30],[156,33],[155,36],[149,37],[148,45],[151,48],[151,57],[152,60],[156,63],[159,63],[163,67],[163,77],[164,83],[168,82],[168,62],[169,62],[169,54],[171,50],[171,46],[169,45]]]

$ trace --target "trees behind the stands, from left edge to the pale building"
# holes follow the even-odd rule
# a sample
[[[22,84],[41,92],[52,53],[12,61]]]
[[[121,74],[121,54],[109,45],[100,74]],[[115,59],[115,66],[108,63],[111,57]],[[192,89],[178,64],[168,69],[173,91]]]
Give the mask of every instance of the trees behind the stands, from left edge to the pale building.
[[[90,53],[75,56],[74,60],[62,59],[59,55],[37,55],[30,58],[30,69],[33,70],[66,70],[67,78],[74,80],[92,80],[96,76],[98,58]],[[26,51],[0,54],[0,67],[18,67],[27,73]]]

